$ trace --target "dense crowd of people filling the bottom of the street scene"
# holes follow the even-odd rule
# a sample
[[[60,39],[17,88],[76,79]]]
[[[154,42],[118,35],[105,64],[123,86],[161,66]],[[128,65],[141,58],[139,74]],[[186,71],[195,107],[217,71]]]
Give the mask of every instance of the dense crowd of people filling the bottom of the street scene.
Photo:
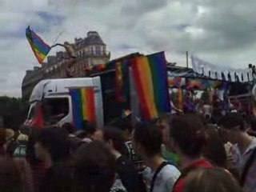
[[[0,130],[2,192],[254,192],[256,118],[166,114]]]

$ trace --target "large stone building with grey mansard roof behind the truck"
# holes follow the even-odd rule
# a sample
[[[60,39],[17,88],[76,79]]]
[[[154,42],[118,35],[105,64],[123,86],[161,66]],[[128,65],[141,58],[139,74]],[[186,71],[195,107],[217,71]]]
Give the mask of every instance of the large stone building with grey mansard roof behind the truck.
[[[97,64],[110,61],[110,53],[106,51],[106,44],[96,31],[89,31],[86,38],[75,38],[74,47],[76,60],[70,74],[74,78],[85,77],[86,70]],[[70,59],[66,51],[58,51],[53,56],[48,56],[41,67],[26,70],[22,81],[22,98],[28,99],[34,86],[46,78],[66,78],[66,69]]]

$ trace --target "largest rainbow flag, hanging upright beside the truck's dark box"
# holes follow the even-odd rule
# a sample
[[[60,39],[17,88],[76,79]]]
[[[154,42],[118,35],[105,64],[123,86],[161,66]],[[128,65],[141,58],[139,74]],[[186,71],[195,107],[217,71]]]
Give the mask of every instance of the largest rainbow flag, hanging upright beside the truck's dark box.
[[[149,120],[170,113],[170,98],[164,52],[132,58],[135,89],[142,118]]]

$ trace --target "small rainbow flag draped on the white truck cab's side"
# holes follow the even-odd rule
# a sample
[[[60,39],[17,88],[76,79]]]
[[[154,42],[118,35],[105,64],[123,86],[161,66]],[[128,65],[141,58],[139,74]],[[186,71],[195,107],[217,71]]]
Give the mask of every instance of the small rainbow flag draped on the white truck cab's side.
[[[73,106],[73,123],[77,129],[82,129],[82,122],[95,122],[94,87],[70,88]]]

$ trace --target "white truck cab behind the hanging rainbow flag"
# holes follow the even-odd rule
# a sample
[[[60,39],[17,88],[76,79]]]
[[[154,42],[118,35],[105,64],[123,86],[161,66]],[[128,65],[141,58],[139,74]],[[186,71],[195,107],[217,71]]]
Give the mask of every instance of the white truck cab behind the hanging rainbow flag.
[[[33,119],[42,110],[44,125],[62,126],[66,122],[73,122],[72,102],[69,94],[71,87],[94,87],[96,121],[103,126],[102,86],[100,77],[94,78],[56,78],[38,82],[30,95],[30,110],[27,115],[26,126],[34,126]]]

